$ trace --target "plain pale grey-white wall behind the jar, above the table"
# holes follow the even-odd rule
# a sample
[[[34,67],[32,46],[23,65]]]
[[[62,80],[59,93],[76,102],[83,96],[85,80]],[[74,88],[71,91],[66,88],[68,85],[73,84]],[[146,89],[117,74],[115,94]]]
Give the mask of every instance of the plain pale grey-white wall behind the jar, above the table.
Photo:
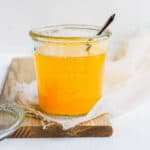
[[[149,5],[149,0],[0,0],[0,48],[5,51],[14,45],[29,49],[28,31],[32,27],[102,25],[114,12],[117,17],[111,30],[114,37],[122,38],[150,26]]]

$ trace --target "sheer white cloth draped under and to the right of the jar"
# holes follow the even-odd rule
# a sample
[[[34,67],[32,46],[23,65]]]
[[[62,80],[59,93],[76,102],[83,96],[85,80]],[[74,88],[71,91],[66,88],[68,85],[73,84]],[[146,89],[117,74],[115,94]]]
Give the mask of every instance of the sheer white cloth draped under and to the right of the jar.
[[[37,103],[36,81],[16,85],[16,93],[23,92],[29,103]],[[83,117],[50,117],[68,129],[78,123],[109,112],[112,119],[145,102],[150,95],[150,34],[139,33],[114,50],[105,67],[104,94],[91,112]]]

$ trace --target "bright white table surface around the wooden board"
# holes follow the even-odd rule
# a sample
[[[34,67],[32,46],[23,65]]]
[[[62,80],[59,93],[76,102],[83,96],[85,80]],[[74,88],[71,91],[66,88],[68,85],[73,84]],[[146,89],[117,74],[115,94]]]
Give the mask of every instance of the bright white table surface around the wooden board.
[[[11,48],[12,49],[12,48]],[[0,89],[11,59],[28,56],[31,51],[3,51],[0,54]],[[149,150],[150,149],[150,97],[147,103],[112,121],[114,133],[110,138],[41,138],[5,139],[0,150]]]

